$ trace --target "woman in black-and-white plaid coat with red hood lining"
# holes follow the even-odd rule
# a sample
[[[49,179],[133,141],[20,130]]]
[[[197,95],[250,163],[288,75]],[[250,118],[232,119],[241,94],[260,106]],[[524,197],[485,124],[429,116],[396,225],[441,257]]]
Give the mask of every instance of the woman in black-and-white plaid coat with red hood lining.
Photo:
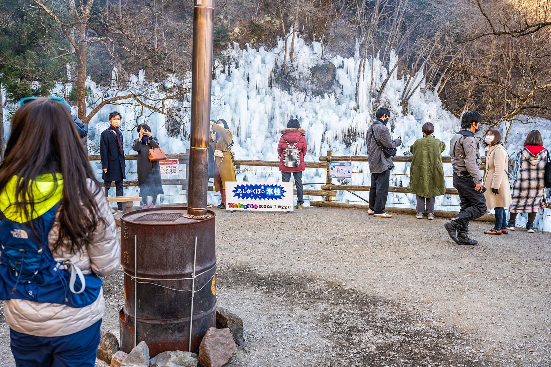
[[[540,209],[547,206],[545,198],[545,163],[549,152],[543,147],[542,134],[532,130],[526,136],[521,150],[518,178],[512,189],[512,204],[509,207],[507,229],[515,231],[515,220],[518,213],[528,213],[526,230],[534,232],[534,220]]]

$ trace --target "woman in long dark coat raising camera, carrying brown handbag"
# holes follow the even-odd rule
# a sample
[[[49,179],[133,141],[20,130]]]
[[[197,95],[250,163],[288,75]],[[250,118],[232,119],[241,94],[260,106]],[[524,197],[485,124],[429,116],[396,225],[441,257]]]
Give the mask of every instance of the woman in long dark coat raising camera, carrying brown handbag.
[[[151,135],[151,128],[148,124],[139,124],[138,139],[134,139],[132,149],[138,152],[138,185],[139,194],[142,196],[142,209],[154,208],[157,195],[164,193],[161,185],[161,168],[159,162],[149,161],[149,149],[158,148],[159,142]],[[148,197],[152,196],[151,204],[148,205]]]

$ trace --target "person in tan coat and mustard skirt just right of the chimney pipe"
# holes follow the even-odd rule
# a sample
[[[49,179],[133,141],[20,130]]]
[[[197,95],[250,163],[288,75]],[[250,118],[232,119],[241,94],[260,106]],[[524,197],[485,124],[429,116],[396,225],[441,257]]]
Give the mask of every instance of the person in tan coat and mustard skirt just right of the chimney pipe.
[[[231,146],[233,134],[224,119],[210,121],[210,149],[214,152],[214,191],[220,191],[220,209],[226,209],[226,182],[235,181],[235,162]]]

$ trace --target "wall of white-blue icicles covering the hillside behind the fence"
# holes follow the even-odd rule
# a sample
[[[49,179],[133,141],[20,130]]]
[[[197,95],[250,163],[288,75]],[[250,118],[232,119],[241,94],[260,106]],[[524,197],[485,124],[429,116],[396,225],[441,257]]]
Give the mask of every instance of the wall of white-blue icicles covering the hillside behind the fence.
[[[292,33],[290,33],[291,35]],[[225,52],[224,63],[215,61],[214,80],[212,81],[212,118],[224,118],[234,132],[235,145],[233,150],[236,159],[252,160],[278,160],[277,143],[280,130],[286,127],[291,117],[298,118],[301,127],[306,130],[306,141],[309,145],[306,155],[307,161],[318,161],[320,155],[326,155],[327,150],[333,150],[334,155],[364,155],[365,132],[373,117],[372,109],[375,107],[375,97],[379,93],[383,80],[389,70],[397,62],[395,53],[390,54],[390,62],[386,65],[379,57],[369,57],[365,66],[361,67],[360,82],[358,85],[358,108],[355,107],[356,77],[358,69],[362,65],[360,53],[355,57],[345,58],[339,55],[325,55],[322,59],[322,45],[312,42],[306,45],[304,40],[296,36],[294,43],[294,57],[289,61],[290,43],[289,35],[287,50],[288,71],[295,80],[311,80],[311,70],[324,64],[333,64],[334,85],[323,96],[311,95],[300,88],[284,90],[277,83],[276,73],[283,64],[284,41],[279,40],[273,50],[265,50],[263,47],[256,50],[249,47],[241,48],[234,44]],[[116,74],[114,70],[114,77]],[[422,137],[421,127],[425,122],[435,125],[434,135],[449,144],[455,132],[459,129],[459,121],[450,112],[442,107],[438,96],[432,91],[424,90],[424,84],[415,91],[408,103],[408,114],[402,114],[400,106],[402,92],[406,87],[406,79],[398,79],[398,70],[393,70],[390,80],[381,94],[382,105],[392,112],[390,120],[391,134],[393,138],[402,136],[403,144],[398,147],[398,155],[409,154],[409,146]],[[417,85],[423,80],[424,75],[414,75],[408,88]],[[131,84],[143,86],[148,83],[143,73],[131,76]],[[176,81],[177,82],[177,81]],[[175,83],[170,78],[166,83]],[[88,80],[87,85],[95,94],[116,95],[121,93],[116,89],[105,89]],[[152,90],[158,89],[153,85]],[[90,100],[94,105],[94,98]],[[181,108],[183,113],[189,109],[188,101],[172,101],[173,107]],[[142,111],[141,107],[112,106],[108,105],[94,116],[90,122],[89,149],[91,154],[98,150],[101,132],[109,125],[107,116],[111,111],[119,111],[123,116],[122,130],[125,130],[125,152],[132,154],[132,141],[137,138],[135,127],[137,123],[146,122],[150,125],[153,135],[157,136],[161,146],[167,152],[183,152],[189,146],[189,141],[182,136],[171,138],[167,135],[165,116],[162,114]],[[547,124],[547,128],[545,127]],[[538,128],[544,138],[546,146],[551,146],[551,122],[541,120],[535,125],[515,126],[511,133],[507,150],[512,153],[520,148],[528,130]],[[188,126],[183,127],[188,129]],[[348,141],[348,144],[345,143]],[[446,147],[444,154],[448,154]],[[484,154],[481,151],[481,154]],[[409,163],[395,163],[396,168],[391,173],[391,185],[407,186],[409,184]],[[351,185],[370,185],[368,163],[353,162],[353,177],[347,183]],[[101,178],[99,162],[92,162],[92,166]],[[240,167],[237,172],[238,180],[280,180],[280,173],[276,167]],[[444,164],[446,176],[451,176],[451,165]],[[136,179],[136,161],[127,162],[127,179]],[[306,169],[303,176],[304,183],[325,182],[325,170]],[[446,177],[446,187],[452,187],[451,177]],[[307,185],[306,188],[319,188],[319,185]],[[125,188],[126,193],[138,194],[138,188]],[[161,202],[184,202],[186,195],[180,187],[165,186],[165,196]],[[368,199],[368,192],[356,193]],[[209,201],[216,204],[219,199],[215,193],[209,193]],[[415,195],[390,193],[388,202],[390,206],[414,207]],[[320,197],[306,199],[320,200]],[[361,199],[345,191],[338,191],[337,198],[343,202],[358,202],[365,204]],[[306,205],[308,205],[306,200]],[[439,196],[436,199],[437,210],[458,210],[458,198],[455,195]],[[545,210],[545,214],[551,215],[551,210]],[[523,224],[525,218],[519,218],[518,223]],[[537,228],[551,231],[551,216],[538,216]]]

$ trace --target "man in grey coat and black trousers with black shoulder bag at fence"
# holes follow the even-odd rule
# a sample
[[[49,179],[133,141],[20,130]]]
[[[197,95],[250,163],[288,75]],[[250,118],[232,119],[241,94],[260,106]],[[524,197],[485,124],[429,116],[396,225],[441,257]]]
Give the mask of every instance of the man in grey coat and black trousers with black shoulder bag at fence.
[[[385,156],[383,148],[392,149],[402,145],[402,138],[398,136],[398,139],[392,140],[390,136],[390,131],[386,127],[388,118],[390,118],[388,108],[377,109],[376,117],[377,119],[371,124],[365,137],[369,172],[371,172],[368,214],[378,218],[390,218],[392,215],[385,213],[385,206],[390,183],[390,170],[394,168],[394,164],[391,157]]]

